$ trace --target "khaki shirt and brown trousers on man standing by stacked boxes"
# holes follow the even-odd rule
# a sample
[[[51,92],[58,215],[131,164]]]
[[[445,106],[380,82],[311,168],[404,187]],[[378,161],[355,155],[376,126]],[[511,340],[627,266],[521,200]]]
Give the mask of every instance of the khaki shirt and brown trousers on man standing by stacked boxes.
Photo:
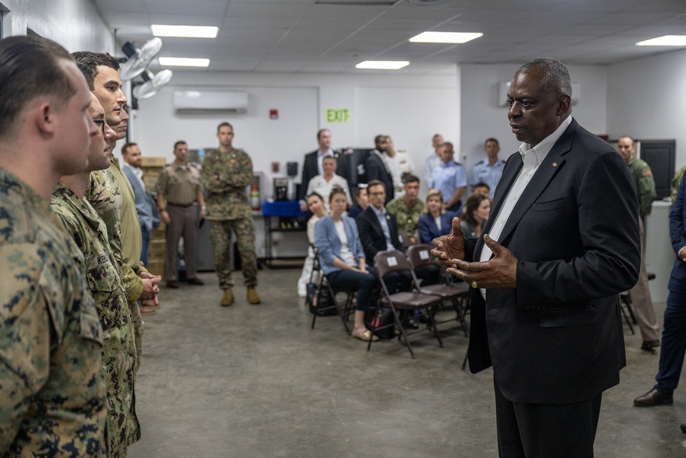
[[[193,205],[202,192],[202,181],[198,169],[176,162],[160,171],[156,190],[167,201],[167,259],[165,279],[178,280],[178,241],[183,237],[183,253],[187,278],[198,277],[198,208]]]

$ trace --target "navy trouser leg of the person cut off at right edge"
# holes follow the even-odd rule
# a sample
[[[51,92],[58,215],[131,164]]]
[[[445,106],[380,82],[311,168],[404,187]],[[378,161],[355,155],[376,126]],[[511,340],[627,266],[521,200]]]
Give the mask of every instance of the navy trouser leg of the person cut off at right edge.
[[[665,321],[662,328],[660,368],[655,389],[672,394],[679,383],[681,367],[686,354],[686,293],[670,291],[667,296]]]

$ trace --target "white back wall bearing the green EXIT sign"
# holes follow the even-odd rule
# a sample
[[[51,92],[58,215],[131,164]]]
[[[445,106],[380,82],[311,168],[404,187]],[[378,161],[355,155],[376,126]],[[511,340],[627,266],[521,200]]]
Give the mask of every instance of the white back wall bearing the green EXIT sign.
[[[187,140],[190,148],[216,146],[216,126],[226,120],[236,131],[234,145],[250,153],[255,170],[266,173],[271,193],[272,177],[285,176],[287,161],[298,162],[300,181],[303,156],[317,148],[318,129],[331,129],[334,148],[371,148],[375,135],[384,133],[393,137],[397,149],[407,150],[421,176],[431,136],[439,131],[446,138],[459,138],[456,73],[416,77],[175,71],[169,87],[139,102],[132,141],[144,155],[171,161],[177,139]],[[199,88],[248,91],[248,113],[174,113],[173,91]],[[269,119],[271,108],[279,110],[278,120]],[[327,123],[328,108],[350,109],[351,122]],[[272,174],[272,161],[281,163],[281,173]]]

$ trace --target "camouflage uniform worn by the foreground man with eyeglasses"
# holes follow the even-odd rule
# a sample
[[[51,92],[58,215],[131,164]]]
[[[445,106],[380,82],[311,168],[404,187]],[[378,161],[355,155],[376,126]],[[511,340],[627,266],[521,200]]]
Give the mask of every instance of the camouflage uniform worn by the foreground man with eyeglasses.
[[[85,257],[86,279],[104,330],[102,361],[107,381],[109,456],[126,457],[127,446],[141,437],[134,396],[136,344],[107,229],[91,204],[62,183],[52,195],[51,207]]]

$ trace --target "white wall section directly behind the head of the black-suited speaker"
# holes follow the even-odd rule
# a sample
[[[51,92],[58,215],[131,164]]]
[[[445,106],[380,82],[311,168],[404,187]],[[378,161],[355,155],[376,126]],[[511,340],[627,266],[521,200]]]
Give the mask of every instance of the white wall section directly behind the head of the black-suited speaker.
[[[485,157],[484,140],[495,137],[500,157],[519,148],[507,119],[507,106],[499,100],[500,82],[512,80],[521,64],[460,65],[460,161],[471,170]],[[572,107],[579,124],[593,133],[606,133],[607,69],[598,65],[568,65],[572,82],[580,84],[580,100]]]

